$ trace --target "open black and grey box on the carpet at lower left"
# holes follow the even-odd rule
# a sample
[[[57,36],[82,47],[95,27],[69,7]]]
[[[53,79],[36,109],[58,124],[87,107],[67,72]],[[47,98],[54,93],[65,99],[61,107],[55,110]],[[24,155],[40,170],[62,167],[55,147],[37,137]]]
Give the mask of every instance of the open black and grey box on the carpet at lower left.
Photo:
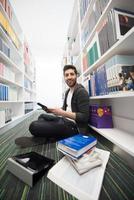
[[[8,158],[7,169],[32,187],[53,164],[53,159],[29,152]]]

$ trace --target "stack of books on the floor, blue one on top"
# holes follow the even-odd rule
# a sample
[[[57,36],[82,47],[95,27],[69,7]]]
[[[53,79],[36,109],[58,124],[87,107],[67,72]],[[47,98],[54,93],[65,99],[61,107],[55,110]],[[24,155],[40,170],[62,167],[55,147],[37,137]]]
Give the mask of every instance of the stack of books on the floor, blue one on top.
[[[57,149],[62,152],[75,170],[81,175],[102,165],[96,151],[97,139],[93,136],[77,134],[58,141]]]

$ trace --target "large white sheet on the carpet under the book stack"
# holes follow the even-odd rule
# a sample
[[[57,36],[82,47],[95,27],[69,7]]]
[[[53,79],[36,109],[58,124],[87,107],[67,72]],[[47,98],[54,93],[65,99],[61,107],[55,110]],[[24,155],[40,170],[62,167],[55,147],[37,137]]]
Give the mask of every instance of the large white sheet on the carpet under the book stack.
[[[66,157],[48,172],[47,177],[79,200],[98,200],[110,152],[97,149],[103,164],[79,175]]]

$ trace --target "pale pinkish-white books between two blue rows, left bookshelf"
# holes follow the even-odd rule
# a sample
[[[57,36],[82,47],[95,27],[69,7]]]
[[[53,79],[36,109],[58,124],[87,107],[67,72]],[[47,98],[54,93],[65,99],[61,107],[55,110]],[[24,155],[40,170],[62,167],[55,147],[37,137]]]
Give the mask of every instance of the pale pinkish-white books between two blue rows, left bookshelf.
[[[6,65],[0,62],[0,76],[4,77],[5,79],[9,79],[10,81],[15,82],[15,73]]]

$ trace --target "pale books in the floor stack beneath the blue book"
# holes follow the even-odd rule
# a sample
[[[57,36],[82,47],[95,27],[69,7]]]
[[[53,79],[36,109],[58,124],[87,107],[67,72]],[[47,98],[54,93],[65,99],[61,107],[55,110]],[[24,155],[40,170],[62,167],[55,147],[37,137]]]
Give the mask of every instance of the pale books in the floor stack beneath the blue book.
[[[81,175],[93,168],[102,165],[102,159],[95,149],[95,147],[93,149],[90,149],[77,160],[72,159],[70,156],[66,156],[66,158],[73,165],[76,171]]]

